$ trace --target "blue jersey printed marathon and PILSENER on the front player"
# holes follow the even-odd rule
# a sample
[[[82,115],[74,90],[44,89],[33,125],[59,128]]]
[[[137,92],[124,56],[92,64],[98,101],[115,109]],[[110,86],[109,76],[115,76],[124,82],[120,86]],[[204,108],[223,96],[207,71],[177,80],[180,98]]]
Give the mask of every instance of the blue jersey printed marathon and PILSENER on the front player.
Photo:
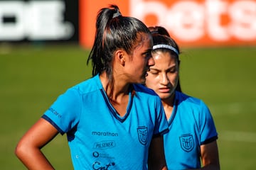
[[[43,118],[67,134],[75,169],[146,169],[151,138],[168,130],[154,91],[134,84],[120,117],[98,75],[60,95]]]

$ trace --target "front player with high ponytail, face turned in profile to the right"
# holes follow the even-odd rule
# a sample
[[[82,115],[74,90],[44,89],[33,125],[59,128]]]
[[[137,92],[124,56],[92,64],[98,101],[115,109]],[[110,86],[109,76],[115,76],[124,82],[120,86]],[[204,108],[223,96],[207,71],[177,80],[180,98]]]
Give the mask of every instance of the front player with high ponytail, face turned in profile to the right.
[[[168,130],[161,99],[146,89],[154,65],[149,29],[117,6],[97,15],[89,55],[93,77],[60,95],[18,142],[28,169],[53,169],[41,148],[66,134],[74,169],[165,169],[161,134]]]

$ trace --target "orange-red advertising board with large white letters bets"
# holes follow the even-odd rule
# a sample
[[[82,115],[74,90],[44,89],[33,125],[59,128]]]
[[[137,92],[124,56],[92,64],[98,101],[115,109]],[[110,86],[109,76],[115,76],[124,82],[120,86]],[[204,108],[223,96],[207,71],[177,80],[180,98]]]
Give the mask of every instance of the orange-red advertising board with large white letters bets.
[[[80,0],[83,47],[92,47],[97,12],[109,4],[146,26],[164,26],[183,47],[256,45],[256,0]]]

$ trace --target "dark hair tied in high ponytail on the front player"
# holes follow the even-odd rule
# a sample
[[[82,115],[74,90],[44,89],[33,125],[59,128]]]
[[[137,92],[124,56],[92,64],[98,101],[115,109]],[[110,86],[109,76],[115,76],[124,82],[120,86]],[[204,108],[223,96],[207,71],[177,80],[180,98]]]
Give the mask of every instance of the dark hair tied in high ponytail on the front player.
[[[92,60],[92,76],[106,72],[111,78],[114,51],[123,49],[130,54],[138,33],[150,34],[142,21],[122,16],[116,5],[102,8],[97,14],[95,41],[87,60],[87,64]]]

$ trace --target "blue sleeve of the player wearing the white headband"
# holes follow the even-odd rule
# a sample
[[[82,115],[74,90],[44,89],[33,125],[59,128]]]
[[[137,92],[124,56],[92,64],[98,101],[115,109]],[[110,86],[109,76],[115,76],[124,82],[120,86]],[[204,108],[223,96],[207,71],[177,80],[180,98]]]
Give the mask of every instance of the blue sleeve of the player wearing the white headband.
[[[218,139],[218,133],[215,128],[213,116],[203,101],[201,101],[200,125],[201,145],[213,142],[214,140]]]

